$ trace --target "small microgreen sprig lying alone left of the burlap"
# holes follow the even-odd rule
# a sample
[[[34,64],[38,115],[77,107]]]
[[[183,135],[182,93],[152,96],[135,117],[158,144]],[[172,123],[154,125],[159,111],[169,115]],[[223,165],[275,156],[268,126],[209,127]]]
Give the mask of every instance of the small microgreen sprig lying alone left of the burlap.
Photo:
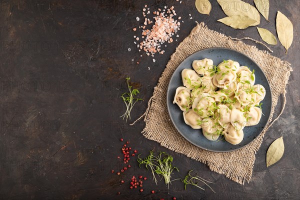
[[[138,89],[132,89],[131,88],[132,86],[129,85],[130,77],[126,77],[126,80],[127,80],[127,86],[128,86],[129,92],[125,92],[120,96],[123,99],[123,101],[126,105],[126,111],[120,117],[123,117],[123,120],[126,117],[126,122],[127,122],[128,117],[129,117],[129,120],[130,120],[130,112],[131,112],[131,109],[134,106],[134,104],[137,101],[143,100],[143,99],[134,97],[137,93],[139,93],[139,91],[138,91]]]

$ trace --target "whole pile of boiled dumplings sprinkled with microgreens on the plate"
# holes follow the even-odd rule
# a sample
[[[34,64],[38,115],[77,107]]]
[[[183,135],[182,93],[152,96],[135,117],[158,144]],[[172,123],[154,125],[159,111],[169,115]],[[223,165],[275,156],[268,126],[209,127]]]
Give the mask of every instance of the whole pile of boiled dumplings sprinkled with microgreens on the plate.
[[[209,140],[223,135],[231,144],[240,143],[243,128],[256,125],[262,114],[265,89],[254,84],[254,70],[230,59],[214,66],[208,58],[194,60],[192,68],[182,70],[184,86],[177,87],[173,101],[185,123],[202,128]]]

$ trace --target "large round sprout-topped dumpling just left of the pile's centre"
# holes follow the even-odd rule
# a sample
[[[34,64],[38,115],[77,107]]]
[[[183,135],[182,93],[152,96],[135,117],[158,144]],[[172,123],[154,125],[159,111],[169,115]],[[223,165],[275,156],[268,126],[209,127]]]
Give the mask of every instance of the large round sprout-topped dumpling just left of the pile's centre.
[[[208,93],[202,93],[193,100],[191,107],[198,115],[205,118],[213,114],[214,105],[213,98]]]

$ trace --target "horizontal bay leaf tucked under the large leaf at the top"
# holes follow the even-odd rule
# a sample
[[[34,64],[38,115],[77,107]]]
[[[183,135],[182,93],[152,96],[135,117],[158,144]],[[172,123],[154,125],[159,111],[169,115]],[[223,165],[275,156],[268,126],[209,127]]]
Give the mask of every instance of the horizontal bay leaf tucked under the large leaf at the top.
[[[217,21],[229,25],[232,28],[238,28],[238,29],[244,29],[246,27],[249,27],[253,23],[255,23],[254,19],[249,18],[246,15],[226,16],[224,18],[218,19]]]

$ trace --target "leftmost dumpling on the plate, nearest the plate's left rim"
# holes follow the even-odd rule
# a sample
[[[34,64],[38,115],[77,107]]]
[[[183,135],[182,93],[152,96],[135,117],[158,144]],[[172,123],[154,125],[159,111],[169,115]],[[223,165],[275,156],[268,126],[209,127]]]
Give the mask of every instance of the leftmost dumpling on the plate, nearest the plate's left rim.
[[[177,87],[173,103],[176,103],[182,111],[190,108],[190,90],[183,86]]]

